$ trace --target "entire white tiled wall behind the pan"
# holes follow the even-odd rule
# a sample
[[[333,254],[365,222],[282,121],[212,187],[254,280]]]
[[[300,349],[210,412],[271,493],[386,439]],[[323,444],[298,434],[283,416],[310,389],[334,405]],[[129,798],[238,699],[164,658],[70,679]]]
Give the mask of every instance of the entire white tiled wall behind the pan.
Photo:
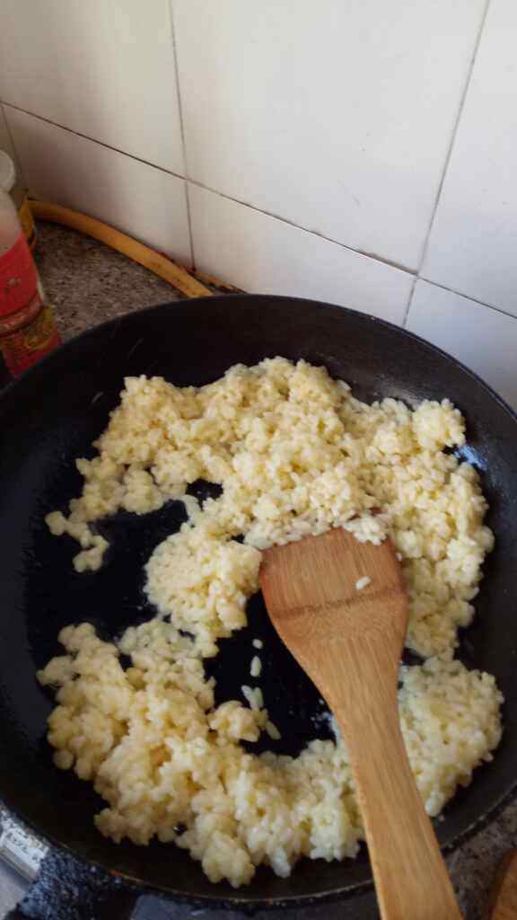
[[[513,0],[4,0],[1,27],[34,194],[406,324],[517,405]]]

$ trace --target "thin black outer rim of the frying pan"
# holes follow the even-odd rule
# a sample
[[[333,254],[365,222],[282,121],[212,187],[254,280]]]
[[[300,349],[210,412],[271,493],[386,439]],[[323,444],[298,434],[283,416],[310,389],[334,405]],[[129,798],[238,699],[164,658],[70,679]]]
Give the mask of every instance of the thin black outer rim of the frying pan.
[[[235,302],[236,300],[244,300],[246,302],[257,302],[257,303],[271,303],[275,304],[300,304],[307,303],[313,306],[322,306],[330,308],[333,312],[338,315],[340,314],[361,317],[366,325],[371,325],[372,327],[384,327],[396,333],[398,337],[402,339],[408,339],[409,341],[418,342],[420,346],[424,346],[431,353],[439,355],[442,359],[445,359],[446,362],[449,362],[456,368],[462,370],[468,377],[470,377],[477,387],[480,387],[482,390],[485,390],[488,395],[500,406],[504,411],[510,416],[511,420],[517,423],[517,412],[514,411],[511,406],[508,405],[506,400],[497,393],[491,385],[489,385],[482,377],[480,377],[475,371],[472,371],[470,368],[466,367],[465,364],[455,358],[453,355],[449,354],[447,351],[443,351],[439,346],[434,345],[427,339],[421,338],[416,333],[410,331],[407,328],[397,326],[395,323],[391,323],[388,320],[382,319],[378,316],[373,316],[369,313],[363,313],[359,310],[354,310],[351,307],[340,306],[336,304],[327,304],[324,301],[316,301],[311,298],[304,297],[295,297],[295,296],[284,296],[276,294],[255,294],[255,293],[231,293],[231,294],[217,294],[213,296],[199,297],[195,298],[198,303],[201,305],[206,304],[222,304],[225,303],[228,306]],[[102,332],[106,332],[111,329],[118,328],[122,323],[131,319],[135,316],[152,316],[154,313],[163,312],[164,309],[174,310],[178,304],[182,303],[183,300],[187,298],[178,298],[175,301],[166,301],[156,305],[151,305],[144,307],[141,310],[132,310],[128,313],[122,314],[121,316],[116,316],[112,319],[106,320],[103,323],[88,328],[83,332],[79,333],[73,339],[69,339],[66,342],[63,342],[61,346],[52,351],[49,355],[41,359],[37,364],[33,365],[23,374],[20,374],[16,380],[6,386],[3,392],[0,393],[0,416],[2,410],[5,407],[6,403],[12,398],[14,394],[16,397],[17,389],[20,385],[23,385],[27,379],[31,377],[36,377],[38,374],[44,374],[45,369],[49,366],[52,366],[52,362],[62,353],[63,350],[70,350],[75,347],[75,342],[84,342],[90,338],[96,338]],[[510,788],[507,788],[502,795],[502,797],[496,801],[488,811],[485,811],[481,814],[475,821],[471,822],[468,827],[465,828],[460,834],[457,834],[452,840],[450,840],[445,845],[442,845],[442,853],[444,855],[454,852],[461,845],[465,844],[467,840],[472,838],[475,834],[480,833],[484,828],[488,826],[490,822],[497,820],[501,811],[503,811],[507,805],[514,799],[517,795],[517,776],[514,783]],[[189,903],[192,906],[204,907],[204,908],[213,908],[213,909],[241,909],[241,910],[267,910],[270,908],[274,909],[286,909],[291,907],[308,907],[308,906],[317,906],[318,904],[324,903],[335,903],[338,901],[349,900],[355,896],[358,896],[366,891],[373,889],[373,880],[364,880],[358,883],[347,886],[346,888],[333,889],[331,891],[317,892],[315,894],[296,894],[292,896],[285,896],[283,898],[260,898],[255,896],[218,896],[216,891],[216,886],[214,885],[213,895],[201,895],[201,894],[188,894],[185,891],[175,891],[170,887],[166,887],[157,882],[149,882],[147,880],[135,880],[129,875],[121,873],[114,868],[107,867],[103,862],[99,861],[93,857],[85,857],[78,855],[75,849],[68,844],[63,843],[62,841],[56,840],[51,833],[47,831],[42,831],[38,822],[32,822],[29,820],[26,815],[23,813],[23,810],[20,809],[19,804],[12,804],[9,800],[10,797],[5,797],[5,795],[0,791],[0,801],[6,807],[6,811],[9,814],[12,814],[16,817],[23,826],[29,828],[29,830],[35,834],[38,838],[48,843],[59,853],[62,853],[65,856],[73,857],[79,862],[85,863],[86,865],[96,867],[101,869],[103,872],[107,873],[113,879],[123,880],[129,888],[138,889],[146,893],[155,893],[159,895],[164,895],[170,901],[175,903]]]

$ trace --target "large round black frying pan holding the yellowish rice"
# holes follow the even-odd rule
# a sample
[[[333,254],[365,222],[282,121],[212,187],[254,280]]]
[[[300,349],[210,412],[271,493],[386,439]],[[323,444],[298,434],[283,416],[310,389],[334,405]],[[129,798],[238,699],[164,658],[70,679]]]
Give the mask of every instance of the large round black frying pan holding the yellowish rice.
[[[46,917],[53,910],[57,920],[58,910],[50,911],[49,903],[56,898],[56,878],[62,885],[66,874],[74,884],[64,892],[68,913],[63,916],[76,917],[100,917],[100,903],[113,916],[114,898],[119,899],[115,915],[121,916],[129,909],[132,885],[190,903],[252,910],[324,903],[357,894],[371,883],[365,853],[344,863],[304,860],[287,880],[260,868],[249,886],[234,891],[228,884],[211,884],[200,866],[172,845],[114,845],[92,822],[100,799],[89,785],[54,768],[44,740],[52,700],[36,682],[35,670],[58,652],[59,629],[88,619],[101,635],[112,637],[150,615],[142,610],[144,560],[182,520],[174,502],[143,519],[116,515],[104,525],[112,541],[105,567],[96,574],[75,574],[71,541],[55,539],[43,523],[46,512],[63,507],[80,489],[74,458],[92,454],[89,445],[105,427],[124,376],[160,374],[178,385],[200,385],[231,364],[253,364],[277,354],[325,364],[361,399],[389,396],[414,406],[421,399],[446,396],[465,413],[468,447],[460,453],[482,473],[497,548],[488,559],[477,621],[462,638],[461,658],[497,676],[506,697],[505,733],[494,762],[477,770],[472,786],[437,823],[442,845],[450,850],[460,844],[493,818],[514,791],[517,419],[511,410],[442,351],[351,310],[245,295],[157,306],[73,340],[0,398],[0,796],[57,847],[26,904],[27,915]],[[271,746],[295,753],[315,737],[311,717],[319,709],[318,696],[276,638],[261,599],[256,597],[249,608],[254,635],[265,639],[266,705],[283,736]],[[248,638],[237,633],[222,646],[212,664],[220,699],[246,683],[249,664]],[[324,736],[322,729],[318,737]],[[65,866],[63,851],[82,862]],[[85,863],[108,874],[85,869]],[[74,899],[73,891],[80,897]]]

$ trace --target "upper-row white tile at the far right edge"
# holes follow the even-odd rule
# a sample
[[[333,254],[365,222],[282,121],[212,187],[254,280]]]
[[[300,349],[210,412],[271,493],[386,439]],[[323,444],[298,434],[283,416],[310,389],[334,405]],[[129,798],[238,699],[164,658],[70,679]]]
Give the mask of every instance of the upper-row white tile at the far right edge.
[[[492,0],[422,270],[517,316],[517,4]]]

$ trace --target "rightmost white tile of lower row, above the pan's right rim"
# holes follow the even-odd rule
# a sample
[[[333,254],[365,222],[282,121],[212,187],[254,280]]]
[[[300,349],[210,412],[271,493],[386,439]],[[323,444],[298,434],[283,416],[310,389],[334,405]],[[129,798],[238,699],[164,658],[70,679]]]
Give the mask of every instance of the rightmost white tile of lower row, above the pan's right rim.
[[[512,316],[419,281],[407,326],[476,371],[517,408],[517,320]]]

